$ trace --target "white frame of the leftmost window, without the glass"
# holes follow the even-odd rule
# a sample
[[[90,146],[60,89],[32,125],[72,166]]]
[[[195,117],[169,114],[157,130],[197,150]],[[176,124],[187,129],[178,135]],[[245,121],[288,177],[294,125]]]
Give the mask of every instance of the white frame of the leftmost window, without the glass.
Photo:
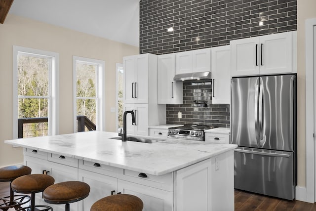
[[[48,135],[59,134],[59,53],[13,45],[13,139],[18,138],[18,55],[49,59]]]

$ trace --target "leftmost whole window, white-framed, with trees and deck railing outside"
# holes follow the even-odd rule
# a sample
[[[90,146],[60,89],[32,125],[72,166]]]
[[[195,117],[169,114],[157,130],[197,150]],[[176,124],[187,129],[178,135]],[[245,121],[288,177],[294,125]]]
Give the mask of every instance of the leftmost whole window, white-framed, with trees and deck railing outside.
[[[13,46],[13,137],[58,134],[58,53]]]

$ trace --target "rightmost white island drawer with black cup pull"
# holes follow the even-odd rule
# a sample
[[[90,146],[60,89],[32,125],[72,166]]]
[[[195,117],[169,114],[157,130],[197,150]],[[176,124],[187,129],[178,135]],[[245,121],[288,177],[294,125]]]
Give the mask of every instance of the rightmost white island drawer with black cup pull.
[[[140,171],[124,169],[124,177],[122,179],[167,191],[173,191],[173,173],[156,176]]]

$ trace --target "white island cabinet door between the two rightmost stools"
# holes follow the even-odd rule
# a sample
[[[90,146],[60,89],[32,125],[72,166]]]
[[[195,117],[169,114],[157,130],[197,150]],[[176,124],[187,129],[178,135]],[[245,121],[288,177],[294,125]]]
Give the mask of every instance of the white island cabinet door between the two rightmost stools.
[[[79,211],[89,211],[93,203],[104,197],[110,196],[111,191],[117,194],[118,179],[99,173],[79,169],[79,181],[90,186],[90,193],[87,198],[79,202]]]

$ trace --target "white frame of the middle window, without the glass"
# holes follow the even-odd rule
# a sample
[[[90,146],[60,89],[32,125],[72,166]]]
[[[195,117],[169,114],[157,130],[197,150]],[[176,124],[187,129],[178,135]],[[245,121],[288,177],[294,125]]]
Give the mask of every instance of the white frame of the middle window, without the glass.
[[[73,56],[73,131],[77,132],[77,62],[96,65],[96,130],[105,131],[105,61]],[[89,98],[89,97],[88,97]]]

